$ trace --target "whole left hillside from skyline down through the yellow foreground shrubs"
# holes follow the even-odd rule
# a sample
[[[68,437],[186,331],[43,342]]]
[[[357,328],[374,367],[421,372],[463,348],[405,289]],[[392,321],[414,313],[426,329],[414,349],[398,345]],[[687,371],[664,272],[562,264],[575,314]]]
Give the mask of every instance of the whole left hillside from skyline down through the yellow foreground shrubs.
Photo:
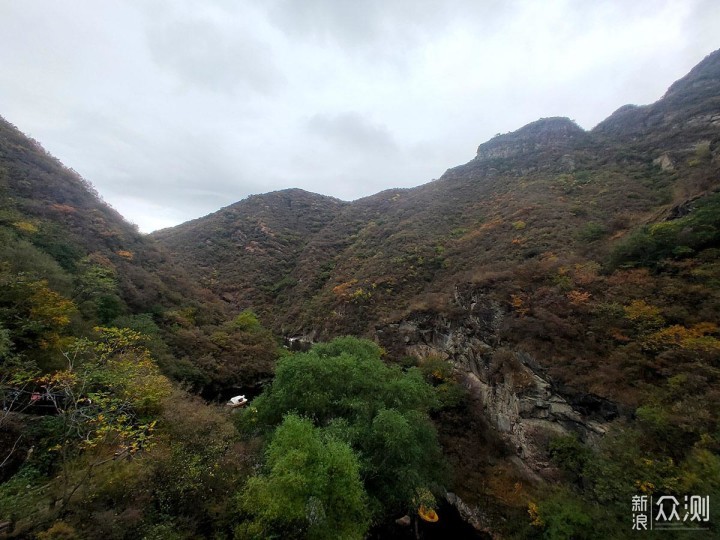
[[[211,516],[243,452],[229,417],[187,392],[270,377],[270,332],[4,120],[0,238],[0,535],[227,528]]]

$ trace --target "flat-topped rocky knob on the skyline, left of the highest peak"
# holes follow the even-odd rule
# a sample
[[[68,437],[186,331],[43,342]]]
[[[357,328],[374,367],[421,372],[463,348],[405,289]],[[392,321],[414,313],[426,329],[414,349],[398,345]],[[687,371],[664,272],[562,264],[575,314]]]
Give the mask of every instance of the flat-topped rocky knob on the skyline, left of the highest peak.
[[[478,147],[475,159],[484,161],[528,154],[538,150],[566,149],[587,135],[569,118],[541,118],[517,131],[496,135]]]

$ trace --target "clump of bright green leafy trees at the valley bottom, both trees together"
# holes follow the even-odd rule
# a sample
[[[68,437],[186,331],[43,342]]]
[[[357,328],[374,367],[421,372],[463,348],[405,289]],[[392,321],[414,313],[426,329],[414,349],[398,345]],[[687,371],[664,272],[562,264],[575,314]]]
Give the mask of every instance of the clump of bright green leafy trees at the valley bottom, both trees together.
[[[433,387],[417,368],[386,365],[381,353],[346,337],[278,362],[272,385],[239,421],[243,431],[274,429],[269,475],[252,478],[241,499],[254,519],[240,536],[256,529],[258,538],[334,538],[348,528],[340,537],[362,538],[372,517],[405,511],[439,484]],[[318,531],[315,514],[328,522]]]

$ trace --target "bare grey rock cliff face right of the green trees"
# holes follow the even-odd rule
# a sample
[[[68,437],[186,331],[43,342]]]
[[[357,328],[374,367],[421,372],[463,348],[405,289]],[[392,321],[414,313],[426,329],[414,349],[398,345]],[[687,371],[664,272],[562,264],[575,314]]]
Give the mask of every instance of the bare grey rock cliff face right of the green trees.
[[[378,328],[378,337],[389,348],[401,344],[405,354],[452,361],[510,450],[541,476],[554,470],[546,452],[552,438],[575,433],[594,444],[602,437],[617,408],[592,394],[561,391],[537,359],[503,349],[498,331],[506,314],[486,291],[458,286],[452,304],[452,315],[415,313]]]

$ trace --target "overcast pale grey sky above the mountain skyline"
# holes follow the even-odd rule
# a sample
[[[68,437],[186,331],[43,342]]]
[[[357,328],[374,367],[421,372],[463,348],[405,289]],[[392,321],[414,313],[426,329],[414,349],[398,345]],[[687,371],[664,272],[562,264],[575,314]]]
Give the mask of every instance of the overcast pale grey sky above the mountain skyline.
[[[0,115],[141,230],[439,177],[720,47],[717,0],[0,0]]]

